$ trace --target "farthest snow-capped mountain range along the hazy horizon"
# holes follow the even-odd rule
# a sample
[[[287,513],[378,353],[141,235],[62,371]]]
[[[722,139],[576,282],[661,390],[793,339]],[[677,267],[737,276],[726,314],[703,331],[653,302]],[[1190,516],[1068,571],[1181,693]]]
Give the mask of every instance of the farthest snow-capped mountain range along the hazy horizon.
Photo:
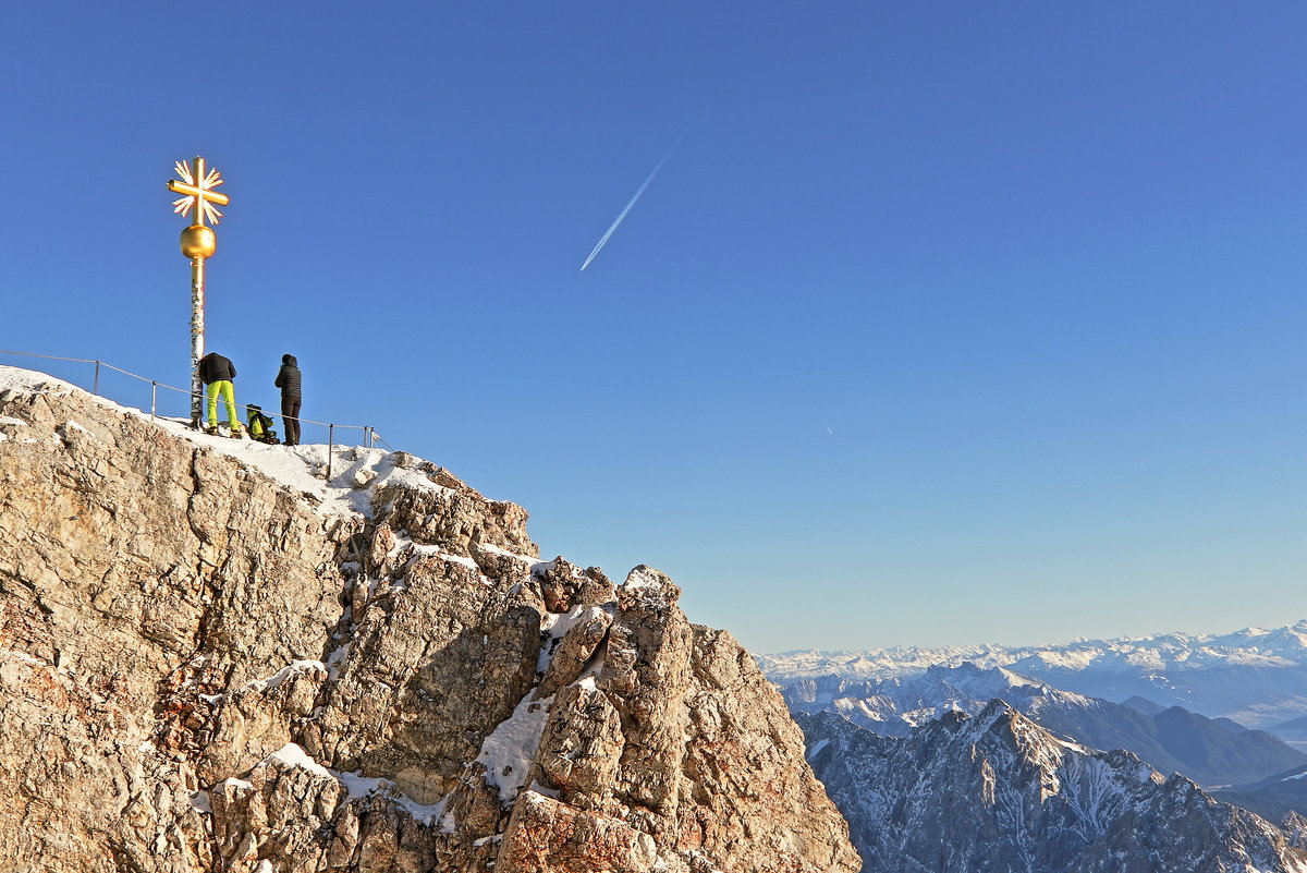
[[[1307,717],[1307,619],[1225,635],[1163,634],[1025,647],[797,651],[762,655],[758,663],[772,682],[784,686],[831,676],[846,681],[910,680],[932,667],[970,663],[1084,697],[1114,702],[1142,698],[1162,710],[1179,706],[1212,720],[1225,717],[1246,727],[1283,729],[1283,738],[1307,745],[1307,721],[1290,727]]]

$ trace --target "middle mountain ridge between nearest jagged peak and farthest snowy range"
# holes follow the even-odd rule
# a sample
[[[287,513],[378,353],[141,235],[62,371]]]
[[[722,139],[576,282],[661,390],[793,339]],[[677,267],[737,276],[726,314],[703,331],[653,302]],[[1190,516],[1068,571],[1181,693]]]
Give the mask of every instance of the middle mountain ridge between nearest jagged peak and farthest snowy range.
[[[908,678],[791,680],[780,691],[791,712],[829,710],[882,736],[906,736],[950,711],[976,715],[1001,699],[1064,738],[1094,749],[1127,749],[1162,772],[1180,772],[1204,785],[1251,783],[1307,766],[1307,754],[1230,720],[1140,698],[1134,706],[1112,703],[968,663],[931,667]]]

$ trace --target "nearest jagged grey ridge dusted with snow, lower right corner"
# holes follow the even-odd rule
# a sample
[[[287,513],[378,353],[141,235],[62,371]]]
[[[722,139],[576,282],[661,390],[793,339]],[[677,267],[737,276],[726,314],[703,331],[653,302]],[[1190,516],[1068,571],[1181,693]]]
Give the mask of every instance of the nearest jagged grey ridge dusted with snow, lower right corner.
[[[800,715],[865,873],[1300,873],[1294,834],[1128,751],[1056,738],[1002,700],[881,737]]]

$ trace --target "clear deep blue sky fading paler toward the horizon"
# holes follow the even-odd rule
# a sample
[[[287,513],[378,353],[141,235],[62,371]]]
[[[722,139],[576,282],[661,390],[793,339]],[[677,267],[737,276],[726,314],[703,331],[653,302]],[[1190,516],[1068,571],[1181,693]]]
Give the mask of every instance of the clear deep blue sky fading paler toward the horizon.
[[[7,12],[0,348],[188,384],[203,154],[238,401],[754,651],[1307,614],[1307,7],[191,9]]]

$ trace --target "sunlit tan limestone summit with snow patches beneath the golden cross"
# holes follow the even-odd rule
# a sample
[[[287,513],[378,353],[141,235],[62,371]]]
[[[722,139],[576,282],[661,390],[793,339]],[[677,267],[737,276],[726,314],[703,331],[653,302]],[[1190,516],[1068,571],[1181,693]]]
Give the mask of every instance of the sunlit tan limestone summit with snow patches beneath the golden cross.
[[[306,493],[260,469],[324,447],[0,376],[4,869],[859,869],[779,695],[664,574],[541,561],[408,455]]]

